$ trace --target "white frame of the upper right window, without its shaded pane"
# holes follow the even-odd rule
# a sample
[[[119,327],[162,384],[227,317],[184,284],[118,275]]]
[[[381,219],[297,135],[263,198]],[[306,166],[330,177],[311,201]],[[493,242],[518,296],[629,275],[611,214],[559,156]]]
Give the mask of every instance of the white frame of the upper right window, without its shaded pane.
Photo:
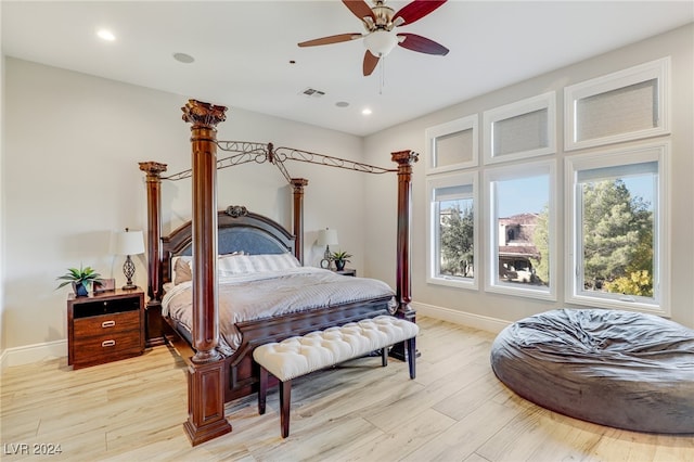
[[[613,144],[630,140],[650,138],[670,132],[670,56],[640,64],[613,74],[600,76],[580,84],[564,88],[564,150],[574,151],[578,149]],[[632,85],[642,84],[648,80],[657,81],[657,117],[656,127],[626,131],[578,141],[577,104],[579,100],[595,97],[611,91],[619,90]]]

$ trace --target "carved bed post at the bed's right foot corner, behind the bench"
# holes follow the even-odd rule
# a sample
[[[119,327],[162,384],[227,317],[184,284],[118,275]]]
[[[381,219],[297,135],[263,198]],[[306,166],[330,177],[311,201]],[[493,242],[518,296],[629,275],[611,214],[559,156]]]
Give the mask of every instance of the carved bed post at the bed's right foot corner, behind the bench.
[[[393,162],[398,164],[397,316],[414,321],[414,310],[410,307],[412,301],[410,223],[412,221],[412,164],[417,162],[417,154],[412,151],[399,151],[390,155]]]

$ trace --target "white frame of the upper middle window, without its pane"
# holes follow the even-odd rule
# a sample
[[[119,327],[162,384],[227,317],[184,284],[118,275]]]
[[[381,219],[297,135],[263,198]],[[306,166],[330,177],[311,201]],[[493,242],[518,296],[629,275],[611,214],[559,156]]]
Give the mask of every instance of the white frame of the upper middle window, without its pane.
[[[496,155],[493,153],[494,124],[502,120],[530,114],[536,111],[547,110],[547,136],[548,145],[528,151],[518,151],[511,154]],[[483,113],[483,124],[485,127],[485,138],[483,151],[485,164],[498,164],[509,161],[517,161],[528,157],[554,154],[556,152],[556,92],[547,93],[525,100],[516,101],[504,106],[485,111]]]

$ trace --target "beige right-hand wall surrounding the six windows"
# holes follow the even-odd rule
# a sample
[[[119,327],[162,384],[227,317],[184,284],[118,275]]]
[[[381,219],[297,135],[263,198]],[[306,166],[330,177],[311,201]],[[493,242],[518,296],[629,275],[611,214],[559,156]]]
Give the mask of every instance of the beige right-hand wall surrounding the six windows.
[[[565,306],[564,287],[558,285],[556,303],[539,301],[529,298],[511,297],[479,291],[446,287],[426,283],[426,223],[427,204],[425,193],[424,130],[446,121],[472,114],[480,115],[504,104],[535,97],[550,90],[557,95],[557,172],[558,184],[563,172],[563,88],[593,77],[611,74],[624,68],[653,61],[666,55],[672,56],[672,152],[671,152],[671,223],[666,231],[672,254],[669,260],[671,274],[671,318],[682,324],[694,326],[694,43],[692,24],[674,29],[658,37],[639,42],[584,62],[557,69],[555,72],[513,85],[485,94],[474,100],[452,105],[446,110],[429,114],[416,120],[384,130],[365,139],[367,158],[383,152],[410,149],[419,152],[422,159],[414,167],[413,181],[413,229],[412,229],[412,295],[415,306],[428,313],[438,313],[452,319],[480,321],[485,318],[514,321],[536,312]],[[421,90],[424,91],[424,90]],[[480,130],[481,131],[481,130]],[[480,140],[481,145],[481,140]],[[484,171],[484,167],[481,168]],[[480,177],[481,178],[481,177]],[[394,283],[391,261],[395,258],[396,216],[394,204],[396,188],[394,184],[369,179],[367,193],[373,197],[373,205],[367,210],[369,232],[367,235],[367,272],[375,278]],[[560,201],[560,204],[563,204]],[[558,217],[558,248],[563,248],[564,214]],[[483,228],[483,234],[484,228]],[[387,256],[384,257],[383,249]],[[373,257],[373,258],[372,258]],[[564,281],[564,261],[558,261],[560,272],[556,281]],[[483,275],[484,277],[484,275]],[[484,287],[484,284],[480,284]],[[433,311],[430,310],[433,309]]]

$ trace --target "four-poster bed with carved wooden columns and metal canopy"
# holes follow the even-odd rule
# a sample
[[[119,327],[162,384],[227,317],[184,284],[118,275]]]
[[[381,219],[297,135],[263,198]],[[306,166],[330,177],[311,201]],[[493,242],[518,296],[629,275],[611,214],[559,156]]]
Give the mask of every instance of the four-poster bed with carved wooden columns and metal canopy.
[[[272,144],[217,141],[215,127],[224,120],[226,110],[194,100],[182,107],[183,120],[192,124],[191,170],[163,177],[165,164],[140,163],[140,169],[146,172],[147,190],[147,337],[150,345],[175,345],[188,364],[189,419],[184,428],[193,445],[230,432],[224,403],[257,393],[255,347],[380,315],[414,321],[409,228],[412,164],[417,155],[410,151],[393,153],[397,169],[382,169],[274,149]],[[217,161],[218,147],[236,154]],[[286,161],[397,174],[395,291],[380,281],[301,266],[303,197],[308,181],[292,178],[284,167]],[[216,170],[246,162],[274,164],[292,185],[293,233],[242,206],[218,210]],[[160,183],[188,177],[192,178],[192,219],[163,236]],[[297,292],[297,287],[310,287],[312,297],[305,296],[305,290]],[[272,297],[260,300],[254,298],[257,294]],[[404,357],[401,345],[394,350]]]

